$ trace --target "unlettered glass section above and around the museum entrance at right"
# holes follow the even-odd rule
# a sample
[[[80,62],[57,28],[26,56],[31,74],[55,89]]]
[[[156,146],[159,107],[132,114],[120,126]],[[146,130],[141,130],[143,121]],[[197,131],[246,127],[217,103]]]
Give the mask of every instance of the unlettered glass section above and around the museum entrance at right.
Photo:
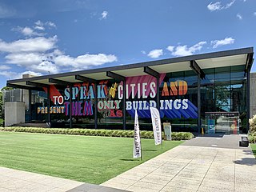
[[[238,112],[240,131],[246,131],[246,76],[244,66],[203,70],[201,81],[201,118],[206,128],[206,112]]]

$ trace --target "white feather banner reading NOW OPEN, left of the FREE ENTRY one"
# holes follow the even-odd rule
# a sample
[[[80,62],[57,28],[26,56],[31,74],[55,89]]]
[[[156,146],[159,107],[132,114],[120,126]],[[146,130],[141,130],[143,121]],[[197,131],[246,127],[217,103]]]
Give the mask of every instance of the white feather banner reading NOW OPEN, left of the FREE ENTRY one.
[[[134,118],[134,158],[142,157],[142,146],[141,146],[141,137],[139,134],[139,126],[138,126],[138,113],[135,110],[135,118]]]

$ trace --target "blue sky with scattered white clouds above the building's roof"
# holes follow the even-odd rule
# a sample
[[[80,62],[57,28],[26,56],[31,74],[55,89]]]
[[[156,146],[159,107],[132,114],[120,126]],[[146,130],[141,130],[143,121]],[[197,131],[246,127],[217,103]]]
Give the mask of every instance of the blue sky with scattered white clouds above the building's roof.
[[[254,46],[255,24],[255,0],[0,0],[0,88],[26,73]]]

